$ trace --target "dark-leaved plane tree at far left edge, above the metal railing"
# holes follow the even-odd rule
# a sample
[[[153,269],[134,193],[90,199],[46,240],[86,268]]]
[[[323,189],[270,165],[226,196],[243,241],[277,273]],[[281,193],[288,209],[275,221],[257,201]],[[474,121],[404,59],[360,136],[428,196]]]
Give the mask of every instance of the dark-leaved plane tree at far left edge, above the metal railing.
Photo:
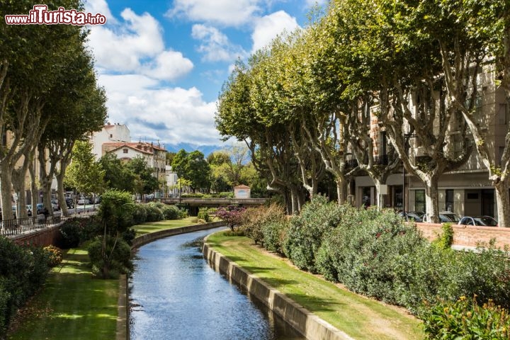
[[[78,8],[78,1],[62,0],[58,4]],[[28,13],[32,1],[2,1],[1,13]],[[11,218],[11,184],[23,178],[23,168],[33,157],[35,146],[49,120],[42,115],[46,94],[58,86],[55,64],[66,57],[69,38],[79,28],[63,25],[26,25],[0,28],[0,184],[4,218]],[[8,138],[7,138],[8,136]],[[18,185],[17,185],[18,186]],[[19,190],[19,186],[17,188]],[[19,193],[18,197],[24,197]]]

